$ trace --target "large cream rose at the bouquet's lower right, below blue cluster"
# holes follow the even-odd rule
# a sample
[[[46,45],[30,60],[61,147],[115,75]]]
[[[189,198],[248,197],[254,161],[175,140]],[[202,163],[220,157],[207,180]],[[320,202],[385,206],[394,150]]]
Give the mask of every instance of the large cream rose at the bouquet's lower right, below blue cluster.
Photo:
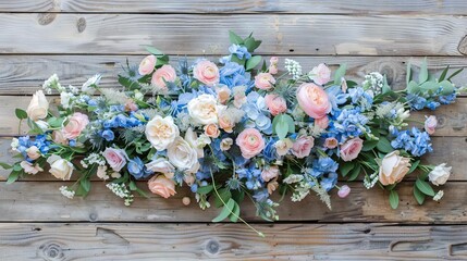
[[[383,158],[379,179],[384,186],[398,183],[408,170],[410,170],[410,159],[398,156],[398,150],[395,150]]]

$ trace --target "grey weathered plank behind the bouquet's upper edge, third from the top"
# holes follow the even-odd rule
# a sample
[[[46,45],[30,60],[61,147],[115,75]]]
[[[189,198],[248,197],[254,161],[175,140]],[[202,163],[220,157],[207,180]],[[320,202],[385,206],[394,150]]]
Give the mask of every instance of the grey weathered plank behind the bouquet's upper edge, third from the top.
[[[226,51],[226,50],[224,50]],[[116,74],[122,72],[126,59],[131,64],[138,64],[143,55],[0,55],[0,95],[30,95],[40,88],[44,80],[57,73],[63,85],[79,86],[96,73],[102,74],[102,87],[119,86]],[[193,60],[193,58],[188,58]],[[210,58],[216,60],[214,58]],[[265,58],[269,61],[269,57]],[[300,62],[305,72],[319,63],[325,62],[332,70],[339,64],[347,64],[348,79],[361,83],[362,77],[374,71],[386,74],[388,82],[395,89],[405,88],[406,63],[410,62],[417,74],[416,66],[423,58],[416,57],[294,57]],[[176,65],[177,57],[172,57]],[[441,73],[447,64],[451,72],[467,67],[467,61],[460,57],[430,57],[428,66],[433,73]],[[283,69],[284,59],[280,59]],[[454,77],[454,83],[467,83],[467,73]]]

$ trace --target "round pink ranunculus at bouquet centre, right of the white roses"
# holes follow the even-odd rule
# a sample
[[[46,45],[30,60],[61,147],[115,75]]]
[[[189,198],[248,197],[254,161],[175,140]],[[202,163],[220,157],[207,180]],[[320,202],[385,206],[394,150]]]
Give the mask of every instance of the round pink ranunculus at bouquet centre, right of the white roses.
[[[245,159],[251,159],[265,148],[265,139],[256,128],[245,128],[235,140]]]

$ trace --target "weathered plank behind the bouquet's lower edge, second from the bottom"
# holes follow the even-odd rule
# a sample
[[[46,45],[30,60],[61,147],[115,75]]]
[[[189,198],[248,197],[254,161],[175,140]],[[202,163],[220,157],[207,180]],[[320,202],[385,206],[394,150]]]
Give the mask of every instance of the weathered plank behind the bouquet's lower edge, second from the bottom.
[[[135,195],[135,202],[124,207],[123,200],[105,187],[102,182],[93,183],[86,199],[64,198],[59,187],[66,183],[20,182],[0,184],[0,222],[210,222],[220,210],[197,208],[193,194],[179,191],[174,197],[162,199],[151,195],[150,199]],[[71,186],[73,183],[67,183]],[[146,184],[139,186],[147,190]],[[291,202],[286,197],[279,207],[281,221],[302,222],[398,222],[418,224],[453,224],[467,222],[466,182],[448,183],[442,189],[441,202],[427,199],[418,206],[413,196],[411,184],[402,184],[397,189],[401,198],[397,210],[392,210],[388,192],[367,190],[362,184],[349,184],[352,194],[346,199],[332,195],[333,210],[310,196],[300,202]],[[184,207],[182,198],[192,198]],[[275,197],[276,199],[279,197]],[[241,215],[248,221],[260,221],[248,199],[242,204]]]

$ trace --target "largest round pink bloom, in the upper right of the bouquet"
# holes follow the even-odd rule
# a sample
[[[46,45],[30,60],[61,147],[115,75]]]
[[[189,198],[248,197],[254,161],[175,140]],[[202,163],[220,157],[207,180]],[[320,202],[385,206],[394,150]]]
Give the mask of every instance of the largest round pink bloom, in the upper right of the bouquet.
[[[316,84],[303,84],[297,90],[297,101],[310,117],[321,119],[331,111],[328,94]]]

